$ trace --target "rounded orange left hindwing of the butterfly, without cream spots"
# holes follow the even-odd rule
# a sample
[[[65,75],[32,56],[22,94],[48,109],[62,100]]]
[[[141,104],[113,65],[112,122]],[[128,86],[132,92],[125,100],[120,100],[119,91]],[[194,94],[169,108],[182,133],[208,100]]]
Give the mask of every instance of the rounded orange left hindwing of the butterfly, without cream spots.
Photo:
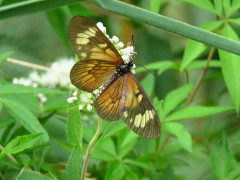
[[[92,92],[108,82],[115,71],[115,65],[106,61],[79,61],[71,69],[70,79],[78,89]]]

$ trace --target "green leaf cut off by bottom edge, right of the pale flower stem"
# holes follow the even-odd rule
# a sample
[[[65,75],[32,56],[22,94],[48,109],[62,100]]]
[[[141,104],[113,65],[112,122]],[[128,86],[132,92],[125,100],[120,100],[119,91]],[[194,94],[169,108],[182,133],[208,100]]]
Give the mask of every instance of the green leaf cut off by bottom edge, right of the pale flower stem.
[[[107,167],[107,174],[104,180],[122,179],[125,173],[124,165],[120,161],[111,161]]]

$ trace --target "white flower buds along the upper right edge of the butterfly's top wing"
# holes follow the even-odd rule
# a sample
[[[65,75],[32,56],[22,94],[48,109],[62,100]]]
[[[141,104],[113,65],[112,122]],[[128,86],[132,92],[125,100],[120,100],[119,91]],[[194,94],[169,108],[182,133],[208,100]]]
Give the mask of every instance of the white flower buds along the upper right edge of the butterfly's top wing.
[[[134,54],[136,54],[136,52],[134,51],[134,47],[128,44],[126,48],[123,48],[124,47],[123,42],[119,41],[119,38],[117,36],[113,36],[112,38],[110,38],[109,35],[107,34],[106,27],[103,26],[101,22],[97,23],[97,27],[107,36],[107,38],[111,41],[114,47],[118,50],[123,61],[125,63],[128,63],[132,59]],[[131,69],[133,74],[135,74],[135,68],[136,68],[136,65],[134,64]]]

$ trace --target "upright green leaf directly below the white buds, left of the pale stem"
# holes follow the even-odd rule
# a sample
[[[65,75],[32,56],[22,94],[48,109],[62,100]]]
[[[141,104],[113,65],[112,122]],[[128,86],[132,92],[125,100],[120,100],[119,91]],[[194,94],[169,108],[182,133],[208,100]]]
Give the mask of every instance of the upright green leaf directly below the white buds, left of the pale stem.
[[[83,129],[80,111],[78,109],[79,103],[77,101],[69,104],[67,113],[66,132],[70,144],[82,146]]]

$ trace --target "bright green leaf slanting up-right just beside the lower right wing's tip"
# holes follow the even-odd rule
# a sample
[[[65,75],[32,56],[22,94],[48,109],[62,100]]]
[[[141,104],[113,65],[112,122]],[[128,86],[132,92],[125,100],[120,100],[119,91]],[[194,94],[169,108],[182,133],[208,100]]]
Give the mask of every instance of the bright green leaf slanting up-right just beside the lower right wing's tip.
[[[161,118],[173,111],[188,96],[192,88],[193,84],[187,84],[168,93],[162,104]]]

